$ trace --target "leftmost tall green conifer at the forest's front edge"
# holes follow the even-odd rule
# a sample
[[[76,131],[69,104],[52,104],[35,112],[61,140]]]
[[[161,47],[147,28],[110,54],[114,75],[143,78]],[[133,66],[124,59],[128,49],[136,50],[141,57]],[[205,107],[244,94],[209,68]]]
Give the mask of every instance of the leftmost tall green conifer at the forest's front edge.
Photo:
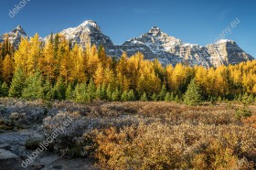
[[[22,69],[16,69],[14,78],[12,80],[9,97],[19,98],[22,96],[22,91],[25,87],[26,77]]]

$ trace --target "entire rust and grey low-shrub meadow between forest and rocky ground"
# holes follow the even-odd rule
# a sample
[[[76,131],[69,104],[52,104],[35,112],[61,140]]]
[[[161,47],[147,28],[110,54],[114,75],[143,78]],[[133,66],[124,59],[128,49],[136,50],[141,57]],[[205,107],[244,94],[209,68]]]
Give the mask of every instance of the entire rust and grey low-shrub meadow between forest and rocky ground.
[[[53,148],[93,156],[102,169],[251,169],[256,163],[256,106],[238,119],[240,103],[186,106],[175,102],[0,100],[5,122],[43,122],[52,133],[71,117]]]

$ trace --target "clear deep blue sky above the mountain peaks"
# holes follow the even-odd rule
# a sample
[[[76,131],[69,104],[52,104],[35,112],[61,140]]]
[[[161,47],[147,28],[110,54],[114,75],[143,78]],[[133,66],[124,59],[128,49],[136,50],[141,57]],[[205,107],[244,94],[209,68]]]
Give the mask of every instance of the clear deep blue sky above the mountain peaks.
[[[254,0],[23,0],[15,17],[9,10],[20,0],[0,1],[0,34],[21,25],[29,36],[45,37],[84,20],[96,21],[103,33],[121,44],[158,26],[184,42],[213,43],[236,18],[240,24],[225,38],[235,40],[256,57],[256,1]]]

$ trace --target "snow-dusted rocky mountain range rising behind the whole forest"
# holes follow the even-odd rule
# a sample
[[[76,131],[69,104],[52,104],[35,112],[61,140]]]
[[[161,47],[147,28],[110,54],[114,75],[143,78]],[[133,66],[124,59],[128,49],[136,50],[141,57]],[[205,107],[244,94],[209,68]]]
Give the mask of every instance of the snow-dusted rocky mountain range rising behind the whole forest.
[[[26,31],[21,26],[6,34],[15,47],[18,46],[21,37],[27,37]],[[102,45],[107,54],[112,57],[119,58],[124,51],[128,56],[132,56],[139,51],[144,54],[144,58],[150,60],[158,58],[164,65],[173,64],[175,66],[177,63],[183,63],[209,68],[238,64],[254,59],[233,40],[220,39],[214,44],[199,46],[171,37],[162,32],[159,27],[152,27],[147,33],[140,37],[133,37],[123,42],[122,45],[114,45],[112,39],[104,35],[101,27],[92,20],[87,20],[78,27],[64,29],[59,34],[69,39],[72,45],[79,44],[82,48],[86,48],[88,44]],[[40,40],[46,41],[48,37],[40,38]],[[0,42],[4,38],[5,35],[0,36]]]

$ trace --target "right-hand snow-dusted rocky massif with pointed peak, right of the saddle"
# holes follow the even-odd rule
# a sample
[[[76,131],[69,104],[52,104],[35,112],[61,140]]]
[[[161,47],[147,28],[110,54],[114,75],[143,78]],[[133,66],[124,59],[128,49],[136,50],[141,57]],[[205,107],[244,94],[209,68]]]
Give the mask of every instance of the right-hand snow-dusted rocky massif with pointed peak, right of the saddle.
[[[158,58],[163,64],[181,62],[190,66],[202,65],[219,67],[220,65],[237,64],[254,59],[244,52],[234,41],[221,39],[205,47],[183,43],[176,37],[170,37],[159,27],[152,27],[148,33],[125,41],[115,50],[109,50],[111,56],[121,56],[126,51],[129,56],[140,51],[147,59]]]

